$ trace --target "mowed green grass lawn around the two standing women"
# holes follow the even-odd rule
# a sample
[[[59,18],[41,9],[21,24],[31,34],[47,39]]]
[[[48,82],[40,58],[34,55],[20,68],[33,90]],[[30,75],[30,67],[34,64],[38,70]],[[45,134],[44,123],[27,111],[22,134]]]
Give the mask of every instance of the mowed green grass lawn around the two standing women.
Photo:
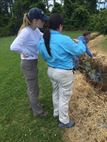
[[[76,37],[80,32],[68,32]],[[51,83],[39,57],[40,101],[48,116],[34,118],[29,110],[20,57],[10,51],[14,37],[0,38],[0,142],[63,142],[64,131],[52,116]]]

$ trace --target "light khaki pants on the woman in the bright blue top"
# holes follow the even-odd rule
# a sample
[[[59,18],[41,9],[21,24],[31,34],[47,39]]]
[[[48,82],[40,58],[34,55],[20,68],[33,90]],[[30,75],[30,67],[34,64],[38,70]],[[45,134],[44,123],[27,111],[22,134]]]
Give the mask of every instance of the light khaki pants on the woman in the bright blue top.
[[[59,121],[67,124],[69,123],[69,100],[74,81],[73,71],[48,67],[48,76],[53,86],[53,115],[59,116]]]

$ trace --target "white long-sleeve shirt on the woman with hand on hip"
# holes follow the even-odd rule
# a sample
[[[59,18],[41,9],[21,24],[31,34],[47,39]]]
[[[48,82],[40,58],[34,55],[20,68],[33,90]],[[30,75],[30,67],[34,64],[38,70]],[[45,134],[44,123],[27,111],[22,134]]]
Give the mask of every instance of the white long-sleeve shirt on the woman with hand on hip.
[[[20,53],[21,59],[38,59],[37,45],[42,35],[38,28],[33,30],[29,26],[25,27],[11,44],[10,50]]]

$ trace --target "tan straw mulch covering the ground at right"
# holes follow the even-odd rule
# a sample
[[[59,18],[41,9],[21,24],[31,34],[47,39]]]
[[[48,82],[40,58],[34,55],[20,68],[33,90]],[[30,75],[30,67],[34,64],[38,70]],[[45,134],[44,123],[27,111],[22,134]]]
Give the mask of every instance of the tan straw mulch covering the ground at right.
[[[105,66],[107,53],[96,49],[102,40],[104,36],[98,36],[89,46],[97,60]],[[69,113],[76,125],[65,130],[64,139],[67,142],[107,142],[107,92],[94,88],[80,72],[76,73]]]

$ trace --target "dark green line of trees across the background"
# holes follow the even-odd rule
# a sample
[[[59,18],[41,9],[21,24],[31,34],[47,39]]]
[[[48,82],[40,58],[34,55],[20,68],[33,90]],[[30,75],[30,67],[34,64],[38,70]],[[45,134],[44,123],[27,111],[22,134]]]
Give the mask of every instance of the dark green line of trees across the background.
[[[41,8],[48,15],[58,12],[64,16],[65,30],[93,30],[107,33],[107,0],[61,0],[53,5],[48,0],[0,0],[0,36],[17,33],[23,14],[32,7]],[[52,9],[50,10],[50,7]]]

